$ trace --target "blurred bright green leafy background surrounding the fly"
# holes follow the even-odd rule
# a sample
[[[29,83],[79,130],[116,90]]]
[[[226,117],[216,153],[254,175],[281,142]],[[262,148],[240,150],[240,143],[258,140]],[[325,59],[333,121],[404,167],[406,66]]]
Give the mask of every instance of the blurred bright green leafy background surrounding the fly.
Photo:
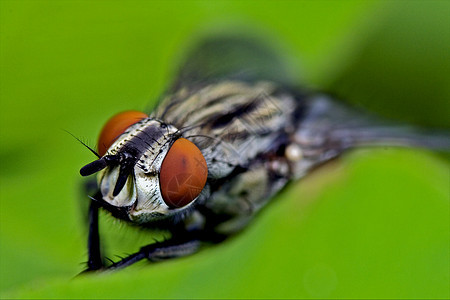
[[[419,149],[349,152],[229,242],[74,278],[93,157],[64,132],[94,146],[111,115],[151,107],[186,45],[227,28],[286,49],[299,85],[448,129],[449,15],[448,1],[0,1],[2,298],[449,298],[449,162]],[[151,241],[102,217],[113,259]]]

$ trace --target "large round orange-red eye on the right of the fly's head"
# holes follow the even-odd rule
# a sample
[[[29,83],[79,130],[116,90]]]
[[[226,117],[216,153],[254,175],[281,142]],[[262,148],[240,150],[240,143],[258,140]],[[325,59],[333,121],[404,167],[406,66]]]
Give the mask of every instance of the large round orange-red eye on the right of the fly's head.
[[[176,140],[159,172],[164,202],[170,208],[191,203],[203,190],[207,177],[206,160],[197,146],[184,138]]]

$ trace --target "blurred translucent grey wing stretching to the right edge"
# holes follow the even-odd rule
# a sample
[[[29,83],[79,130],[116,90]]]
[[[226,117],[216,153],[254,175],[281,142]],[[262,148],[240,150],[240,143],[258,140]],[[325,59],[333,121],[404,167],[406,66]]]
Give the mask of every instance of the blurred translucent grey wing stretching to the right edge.
[[[321,142],[326,139],[328,143],[339,143],[342,149],[411,146],[450,150],[449,132],[383,120],[326,95],[305,99],[305,113],[299,120],[297,137],[312,140],[312,136],[322,136]]]

